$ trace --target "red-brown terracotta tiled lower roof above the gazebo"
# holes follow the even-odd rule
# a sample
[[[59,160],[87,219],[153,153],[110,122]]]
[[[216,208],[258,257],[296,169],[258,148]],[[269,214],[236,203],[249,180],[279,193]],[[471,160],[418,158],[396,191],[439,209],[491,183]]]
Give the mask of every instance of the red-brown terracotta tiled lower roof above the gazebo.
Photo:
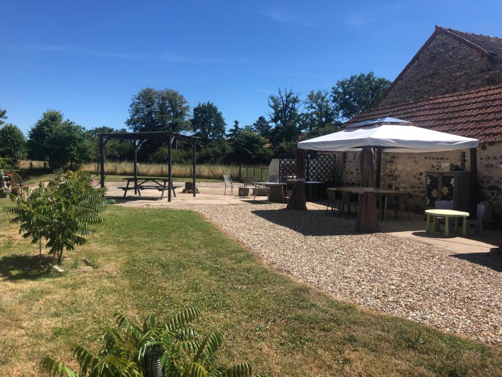
[[[370,109],[346,124],[382,117],[407,120],[417,127],[480,142],[502,141],[502,85]]]

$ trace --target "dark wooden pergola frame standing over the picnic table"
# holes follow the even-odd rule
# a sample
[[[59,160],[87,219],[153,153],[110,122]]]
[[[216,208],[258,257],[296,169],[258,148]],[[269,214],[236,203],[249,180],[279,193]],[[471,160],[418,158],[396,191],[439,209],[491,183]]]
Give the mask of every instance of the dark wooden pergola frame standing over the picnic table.
[[[168,201],[171,202],[172,193],[172,147],[175,140],[186,140],[192,147],[192,179],[193,179],[193,196],[195,197],[195,157],[196,157],[196,142],[198,137],[178,134],[175,132],[107,132],[99,134],[99,163],[101,170],[101,187],[104,187],[104,146],[110,139],[130,140],[134,147],[134,177],[138,177],[138,147],[145,140],[161,140],[167,142],[168,145]]]

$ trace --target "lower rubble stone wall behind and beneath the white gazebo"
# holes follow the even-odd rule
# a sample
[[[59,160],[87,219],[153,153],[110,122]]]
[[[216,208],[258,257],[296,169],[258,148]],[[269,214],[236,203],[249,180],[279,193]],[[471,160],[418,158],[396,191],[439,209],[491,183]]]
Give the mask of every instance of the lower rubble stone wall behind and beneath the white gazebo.
[[[438,170],[444,163],[460,165],[465,152],[466,170],[470,168],[469,150],[442,153],[382,153],[381,186],[410,193],[410,210],[425,208],[425,171]],[[358,152],[336,152],[337,185],[360,185]],[[493,203],[494,217],[502,220],[502,143],[481,144],[477,148],[478,198]]]

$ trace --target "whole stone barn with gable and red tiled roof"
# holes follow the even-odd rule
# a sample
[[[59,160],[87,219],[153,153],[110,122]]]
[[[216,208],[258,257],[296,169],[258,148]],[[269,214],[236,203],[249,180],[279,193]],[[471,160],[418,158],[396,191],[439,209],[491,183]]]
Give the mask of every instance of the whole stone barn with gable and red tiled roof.
[[[414,126],[479,139],[478,200],[493,204],[502,220],[502,39],[436,26],[432,36],[394,80],[376,106],[348,123],[394,117]],[[358,154],[337,153],[337,184],[360,183]],[[411,193],[425,207],[426,170],[444,163],[469,170],[469,150],[382,154],[381,186]]]

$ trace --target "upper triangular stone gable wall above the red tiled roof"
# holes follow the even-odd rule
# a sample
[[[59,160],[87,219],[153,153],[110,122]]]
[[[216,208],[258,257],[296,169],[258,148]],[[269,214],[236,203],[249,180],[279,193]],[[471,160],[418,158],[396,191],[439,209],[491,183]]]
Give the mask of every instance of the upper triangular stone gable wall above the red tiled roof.
[[[502,83],[502,62],[438,34],[378,107]]]

